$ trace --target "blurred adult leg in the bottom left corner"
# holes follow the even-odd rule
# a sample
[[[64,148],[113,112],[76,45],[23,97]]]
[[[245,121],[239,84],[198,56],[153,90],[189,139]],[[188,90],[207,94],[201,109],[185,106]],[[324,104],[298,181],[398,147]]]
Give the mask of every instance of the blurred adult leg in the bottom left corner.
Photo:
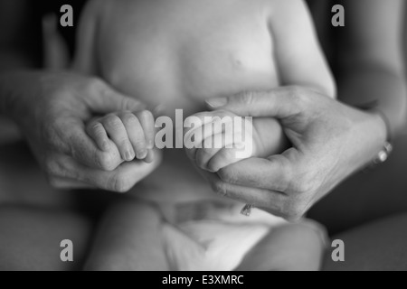
[[[0,206],[0,270],[78,270],[90,242],[90,222],[70,212]],[[62,240],[73,262],[62,262]]]

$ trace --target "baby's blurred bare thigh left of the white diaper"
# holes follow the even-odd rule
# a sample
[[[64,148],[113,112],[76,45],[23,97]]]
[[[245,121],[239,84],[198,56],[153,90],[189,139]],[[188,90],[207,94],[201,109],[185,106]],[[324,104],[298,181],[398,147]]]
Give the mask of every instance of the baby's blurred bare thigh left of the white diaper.
[[[85,268],[90,271],[166,270],[159,210],[131,198],[113,205],[100,223]]]

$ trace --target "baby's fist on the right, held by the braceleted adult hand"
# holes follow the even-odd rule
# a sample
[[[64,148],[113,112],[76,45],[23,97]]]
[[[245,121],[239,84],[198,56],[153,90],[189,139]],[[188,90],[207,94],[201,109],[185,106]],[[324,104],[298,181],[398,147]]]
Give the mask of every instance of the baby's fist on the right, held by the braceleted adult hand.
[[[184,129],[185,141],[192,140],[189,145],[185,142],[186,154],[208,172],[218,172],[243,159],[267,157],[287,148],[286,136],[274,118],[246,119],[225,110],[192,117],[195,118],[187,118],[186,125],[197,119],[203,125]]]

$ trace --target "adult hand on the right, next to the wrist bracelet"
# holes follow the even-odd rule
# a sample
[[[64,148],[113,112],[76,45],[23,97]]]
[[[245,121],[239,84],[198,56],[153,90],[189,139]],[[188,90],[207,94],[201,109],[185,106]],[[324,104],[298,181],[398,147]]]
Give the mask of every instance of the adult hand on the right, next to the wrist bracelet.
[[[338,183],[373,160],[386,140],[382,117],[311,89],[242,93],[211,99],[208,105],[241,117],[279,119],[292,144],[283,154],[243,160],[204,175],[214,191],[286,219],[303,216]]]

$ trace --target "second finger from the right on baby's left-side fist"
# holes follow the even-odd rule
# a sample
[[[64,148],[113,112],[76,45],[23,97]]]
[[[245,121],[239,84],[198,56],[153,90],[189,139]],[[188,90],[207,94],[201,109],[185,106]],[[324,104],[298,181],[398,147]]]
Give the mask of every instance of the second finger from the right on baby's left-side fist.
[[[133,146],[138,160],[143,160],[147,156],[147,144],[143,127],[133,113],[124,113],[120,118],[126,127],[128,139]]]

